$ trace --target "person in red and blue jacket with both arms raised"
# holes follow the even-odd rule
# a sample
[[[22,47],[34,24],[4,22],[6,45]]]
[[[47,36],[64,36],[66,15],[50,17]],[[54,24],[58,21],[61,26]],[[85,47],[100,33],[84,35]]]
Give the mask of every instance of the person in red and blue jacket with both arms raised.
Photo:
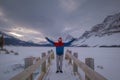
[[[56,73],[58,72],[63,73],[62,63],[63,63],[64,47],[70,46],[71,43],[75,41],[75,39],[73,38],[71,41],[66,43],[62,42],[61,37],[58,38],[58,42],[54,42],[50,40],[48,37],[45,37],[45,39],[56,47],[56,67],[57,67]]]

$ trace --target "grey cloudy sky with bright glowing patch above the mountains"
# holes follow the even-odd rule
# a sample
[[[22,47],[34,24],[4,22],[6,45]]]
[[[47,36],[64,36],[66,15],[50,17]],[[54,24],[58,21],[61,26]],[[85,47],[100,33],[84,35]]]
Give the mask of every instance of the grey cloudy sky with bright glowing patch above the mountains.
[[[0,31],[32,41],[80,37],[118,12],[120,0],[0,0]]]

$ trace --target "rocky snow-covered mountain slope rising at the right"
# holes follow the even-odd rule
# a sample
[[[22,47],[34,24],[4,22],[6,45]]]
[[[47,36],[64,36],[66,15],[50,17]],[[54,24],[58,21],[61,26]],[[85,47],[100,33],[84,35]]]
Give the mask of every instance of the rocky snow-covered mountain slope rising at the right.
[[[78,38],[77,46],[120,46],[120,13],[109,15]]]

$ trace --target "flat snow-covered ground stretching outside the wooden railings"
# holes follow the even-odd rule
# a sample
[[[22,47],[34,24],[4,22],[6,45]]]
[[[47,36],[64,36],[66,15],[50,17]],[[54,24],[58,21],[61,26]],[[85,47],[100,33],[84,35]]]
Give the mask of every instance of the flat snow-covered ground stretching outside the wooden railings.
[[[9,80],[11,77],[23,70],[24,58],[33,56],[40,57],[42,52],[50,49],[55,51],[55,47],[5,47],[14,50],[19,55],[0,54],[0,80]],[[118,80],[120,78],[120,49],[119,48],[80,48],[67,47],[72,52],[78,52],[79,59],[84,62],[85,58],[95,59],[95,70],[104,75],[108,80]],[[21,67],[15,67],[20,65]],[[100,68],[100,67],[103,67]],[[54,66],[56,68],[56,66]],[[65,69],[65,68],[64,68]]]

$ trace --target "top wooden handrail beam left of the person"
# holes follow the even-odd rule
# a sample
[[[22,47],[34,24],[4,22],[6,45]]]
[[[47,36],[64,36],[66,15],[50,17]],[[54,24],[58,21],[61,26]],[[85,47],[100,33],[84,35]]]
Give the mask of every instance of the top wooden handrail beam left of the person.
[[[17,74],[10,80],[26,80],[40,65],[42,65],[48,59],[49,56],[51,56],[51,54],[48,54],[41,60],[38,60],[35,64],[26,68],[23,72]]]

